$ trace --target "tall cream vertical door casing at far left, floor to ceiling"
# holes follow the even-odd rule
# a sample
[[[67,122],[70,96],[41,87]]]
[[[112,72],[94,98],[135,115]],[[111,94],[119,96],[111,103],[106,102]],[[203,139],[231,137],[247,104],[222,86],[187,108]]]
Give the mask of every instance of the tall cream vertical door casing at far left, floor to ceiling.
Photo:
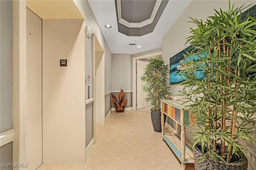
[[[26,162],[26,1],[15,0],[12,7],[13,162]]]

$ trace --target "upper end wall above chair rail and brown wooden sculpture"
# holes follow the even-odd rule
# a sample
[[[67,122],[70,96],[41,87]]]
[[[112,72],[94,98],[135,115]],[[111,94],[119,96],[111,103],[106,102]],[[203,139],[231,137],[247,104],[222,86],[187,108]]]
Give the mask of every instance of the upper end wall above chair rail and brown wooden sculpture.
[[[112,54],[112,91],[132,90],[132,55]]]

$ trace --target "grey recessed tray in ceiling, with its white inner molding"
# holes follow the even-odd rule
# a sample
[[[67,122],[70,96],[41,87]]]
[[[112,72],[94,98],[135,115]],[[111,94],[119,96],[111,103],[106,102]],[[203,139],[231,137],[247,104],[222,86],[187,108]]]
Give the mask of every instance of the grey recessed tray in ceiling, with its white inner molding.
[[[115,0],[118,31],[127,36],[153,32],[168,0]]]

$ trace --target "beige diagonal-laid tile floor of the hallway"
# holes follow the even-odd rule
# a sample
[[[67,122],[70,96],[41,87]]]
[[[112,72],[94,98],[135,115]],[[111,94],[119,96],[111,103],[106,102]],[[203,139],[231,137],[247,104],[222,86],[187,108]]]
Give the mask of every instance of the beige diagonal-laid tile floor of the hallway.
[[[150,108],[144,108],[112,112],[105,126],[96,126],[96,144],[86,163],[42,164],[37,170],[181,170],[181,165],[154,132]]]

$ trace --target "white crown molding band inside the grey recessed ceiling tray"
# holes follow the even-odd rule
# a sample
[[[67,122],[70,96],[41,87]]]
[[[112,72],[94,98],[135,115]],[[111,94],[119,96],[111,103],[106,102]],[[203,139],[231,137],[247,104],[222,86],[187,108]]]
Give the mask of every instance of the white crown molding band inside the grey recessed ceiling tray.
[[[152,11],[152,14],[150,16],[149,19],[142,21],[140,23],[134,23],[134,22],[128,22],[126,20],[124,20],[122,18],[121,15],[121,0],[116,0],[116,4],[117,4],[117,14],[118,14],[118,22],[120,24],[123,24],[124,26],[128,27],[128,28],[142,28],[144,26],[147,26],[149,24],[152,24],[154,21],[154,18],[156,16],[156,13],[158,12],[158,9],[160,7],[162,0],[156,0],[156,4],[154,6],[154,9]]]

